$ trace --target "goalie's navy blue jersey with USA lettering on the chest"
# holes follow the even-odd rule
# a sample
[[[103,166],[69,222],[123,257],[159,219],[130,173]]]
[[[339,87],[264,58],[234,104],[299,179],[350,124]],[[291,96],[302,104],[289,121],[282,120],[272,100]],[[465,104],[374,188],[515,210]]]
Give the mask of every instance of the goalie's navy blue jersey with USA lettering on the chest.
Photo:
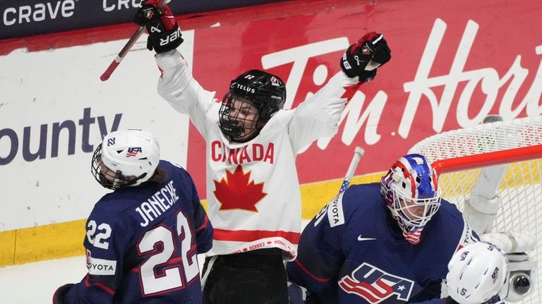
[[[442,200],[420,243],[411,244],[391,217],[380,183],[355,185],[308,223],[287,270],[319,303],[422,303],[440,298],[447,263],[474,241],[461,212]]]

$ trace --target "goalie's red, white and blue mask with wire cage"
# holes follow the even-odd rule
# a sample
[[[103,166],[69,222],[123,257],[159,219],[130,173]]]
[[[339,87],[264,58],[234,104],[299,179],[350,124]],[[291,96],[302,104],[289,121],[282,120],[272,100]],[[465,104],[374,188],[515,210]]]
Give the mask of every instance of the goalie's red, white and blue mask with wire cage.
[[[380,193],[409,243],[420,241],[421,231],[440,207],[437,176],[421,154],[408,154],[382,177]]]

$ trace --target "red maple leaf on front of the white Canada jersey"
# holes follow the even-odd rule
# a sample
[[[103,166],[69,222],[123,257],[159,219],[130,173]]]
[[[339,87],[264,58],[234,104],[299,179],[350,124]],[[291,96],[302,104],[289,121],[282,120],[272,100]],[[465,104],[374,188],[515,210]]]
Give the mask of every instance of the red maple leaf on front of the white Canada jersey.
[[[243,172],[238,165],[234,172],[226,170],[226,178],[215,182],[215,197],[222,204],[220,210],[243,209],[258,212],[256,204],[267,195],[263,192],[264,183],[250,181],[251,172]]]

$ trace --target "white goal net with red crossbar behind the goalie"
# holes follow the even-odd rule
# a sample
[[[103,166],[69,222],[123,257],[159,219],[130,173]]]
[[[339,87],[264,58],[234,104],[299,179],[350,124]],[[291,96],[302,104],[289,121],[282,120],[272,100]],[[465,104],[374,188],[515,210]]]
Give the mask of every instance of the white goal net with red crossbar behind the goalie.
[[[409,153],[423,154],[433,164],[442,197],[460,210],[473,195],[499,195],[502,203],[491,231],[529,231],[536,245],[528,253],[541,267],[542,116],[439,133],[418,142]],[[542,303],[542,273],[537,270],[536,286],[519,303]]]

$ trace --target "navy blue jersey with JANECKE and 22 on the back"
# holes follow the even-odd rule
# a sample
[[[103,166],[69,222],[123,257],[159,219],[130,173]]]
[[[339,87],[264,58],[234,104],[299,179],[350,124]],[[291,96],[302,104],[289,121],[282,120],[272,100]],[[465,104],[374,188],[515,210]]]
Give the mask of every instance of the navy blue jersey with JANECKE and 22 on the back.
[[[210,250],[212,225],[188,173],[166,161],[159,168],[164,182],[96,203],[83,242],[88,274],[59,288],[63,303],[202,303],[196,254]]]

